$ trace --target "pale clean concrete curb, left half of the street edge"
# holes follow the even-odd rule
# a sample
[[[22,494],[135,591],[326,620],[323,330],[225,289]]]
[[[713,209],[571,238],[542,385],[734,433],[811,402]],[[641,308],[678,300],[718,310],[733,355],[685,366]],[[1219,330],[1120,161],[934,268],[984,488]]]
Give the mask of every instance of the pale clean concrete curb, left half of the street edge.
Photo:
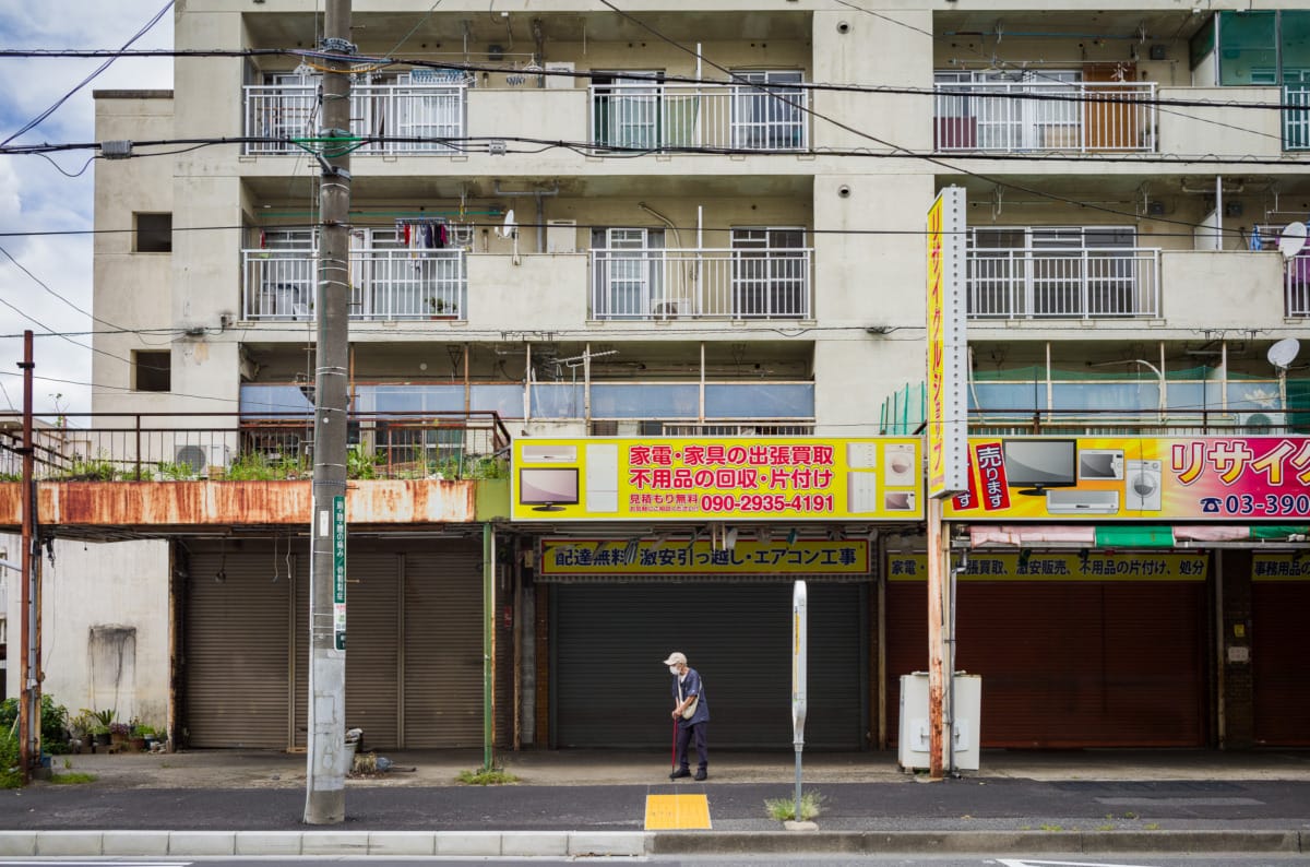
[[[646,832],[258,832],[258,830],[8,830],[0,858],[207,855],[555,855],[650,854]]]

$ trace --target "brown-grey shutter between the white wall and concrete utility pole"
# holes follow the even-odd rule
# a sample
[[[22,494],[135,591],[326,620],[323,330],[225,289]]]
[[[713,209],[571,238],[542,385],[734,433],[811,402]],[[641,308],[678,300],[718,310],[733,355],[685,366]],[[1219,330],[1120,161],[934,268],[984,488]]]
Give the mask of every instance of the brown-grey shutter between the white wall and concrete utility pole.
[[[220,578],[221,574],[221,578]],[[191,747],[287,745],[291,581],[234,544],[193,547],[186,601]]]

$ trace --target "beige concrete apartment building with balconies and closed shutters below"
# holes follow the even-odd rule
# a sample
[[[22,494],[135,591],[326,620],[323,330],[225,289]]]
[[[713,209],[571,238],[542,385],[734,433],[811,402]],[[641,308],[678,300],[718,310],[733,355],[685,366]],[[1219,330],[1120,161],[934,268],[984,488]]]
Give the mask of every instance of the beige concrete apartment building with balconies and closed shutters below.
[[[139,330],[96,338],[103,426],[135,426],[139,447],[136,415],[157,414],[174,451],[152,460],[212,478],[252,451],[299,460],[318,156],[346,148],[352,448],[421,465],[419,485],[448,486],[443,460],[466,466],[510,440],[517,462],[538,441],[917,437],[920,402],[904,397],[924,381],[925,215],[951,186],[967,196],[977,434],[1301,430],[1310,385],[1268,358],[1310,316],[1310,261],[1286,231],[1310,213],[1310,13],[1297,4],[614,5],[356,4],[351,130],[330,132],[314,4],[181,5],[177,48],[250,54],[179,58],[172,92],[97,94],[101,140],[212,141],[97,165],[97,228],[134,231],[97,234],[96,308]],[[447,423],[493,411],[503,436],[481,448]],[[1153,468],[1138,456],[1136,469]],[[1123,486],[1123,471],[1110,478]],[[897,677],[926,665],[922,491],[893,500],[904,515],[732,526],[569,511],[494,533],[431,517],[367,526],[351,540],[347,714],[380,745],[460,747],[481,741],[486,699],[500,743],[654,747],[652,665],[677,647],[706,676],[719,743],[786,747],[787,600],[802,576],[821,639],[811,744],[886,747]],[[301,523],[156,528],[169,574],[140,580],[169,587],[183,660],[170,714],[196,747],[304,743]],[[1058,576],[1069,558],[1086,568],[1087,549],[1111,575],[1141,563],[1140,540],[1065,551],[1032,536],[994,568],[975,558],[956,661],[984,676],[982,744],[1303,740],[1292,613],[1310,583],[1252,580],[1265,557],[1298,570],[1296,537],[1272,551],[1179,544],[1132,581]],[[631,557],[600,557],[607,544],[655,561],[748,541],[855,541],[865,559],[854,574],[638,574]],[[550,566],[579,547],[586,568]],[[483,695],[489,551],[496,673]],[[1032,580],[1041,562],[1048,580]]]

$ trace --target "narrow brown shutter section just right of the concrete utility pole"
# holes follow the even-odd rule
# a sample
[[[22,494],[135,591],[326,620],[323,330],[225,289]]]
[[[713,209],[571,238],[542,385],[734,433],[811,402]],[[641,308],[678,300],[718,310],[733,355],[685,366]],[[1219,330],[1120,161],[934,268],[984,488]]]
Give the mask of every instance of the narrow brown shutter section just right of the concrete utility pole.
[[[400,745],[400,568],[394,551],[352,549],[346,558],[346,727],[364,747]]]

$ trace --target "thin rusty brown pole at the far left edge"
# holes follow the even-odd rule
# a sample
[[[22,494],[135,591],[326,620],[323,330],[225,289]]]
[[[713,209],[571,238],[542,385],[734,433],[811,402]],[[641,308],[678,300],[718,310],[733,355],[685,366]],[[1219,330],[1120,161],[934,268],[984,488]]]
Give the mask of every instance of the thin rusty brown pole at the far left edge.
[[[31,331],[22,333],[22,602],[18,661],[18,764],[22,783],[31,782],[41,760],[41,584],[37,581],[37,482],[31,445]]]

